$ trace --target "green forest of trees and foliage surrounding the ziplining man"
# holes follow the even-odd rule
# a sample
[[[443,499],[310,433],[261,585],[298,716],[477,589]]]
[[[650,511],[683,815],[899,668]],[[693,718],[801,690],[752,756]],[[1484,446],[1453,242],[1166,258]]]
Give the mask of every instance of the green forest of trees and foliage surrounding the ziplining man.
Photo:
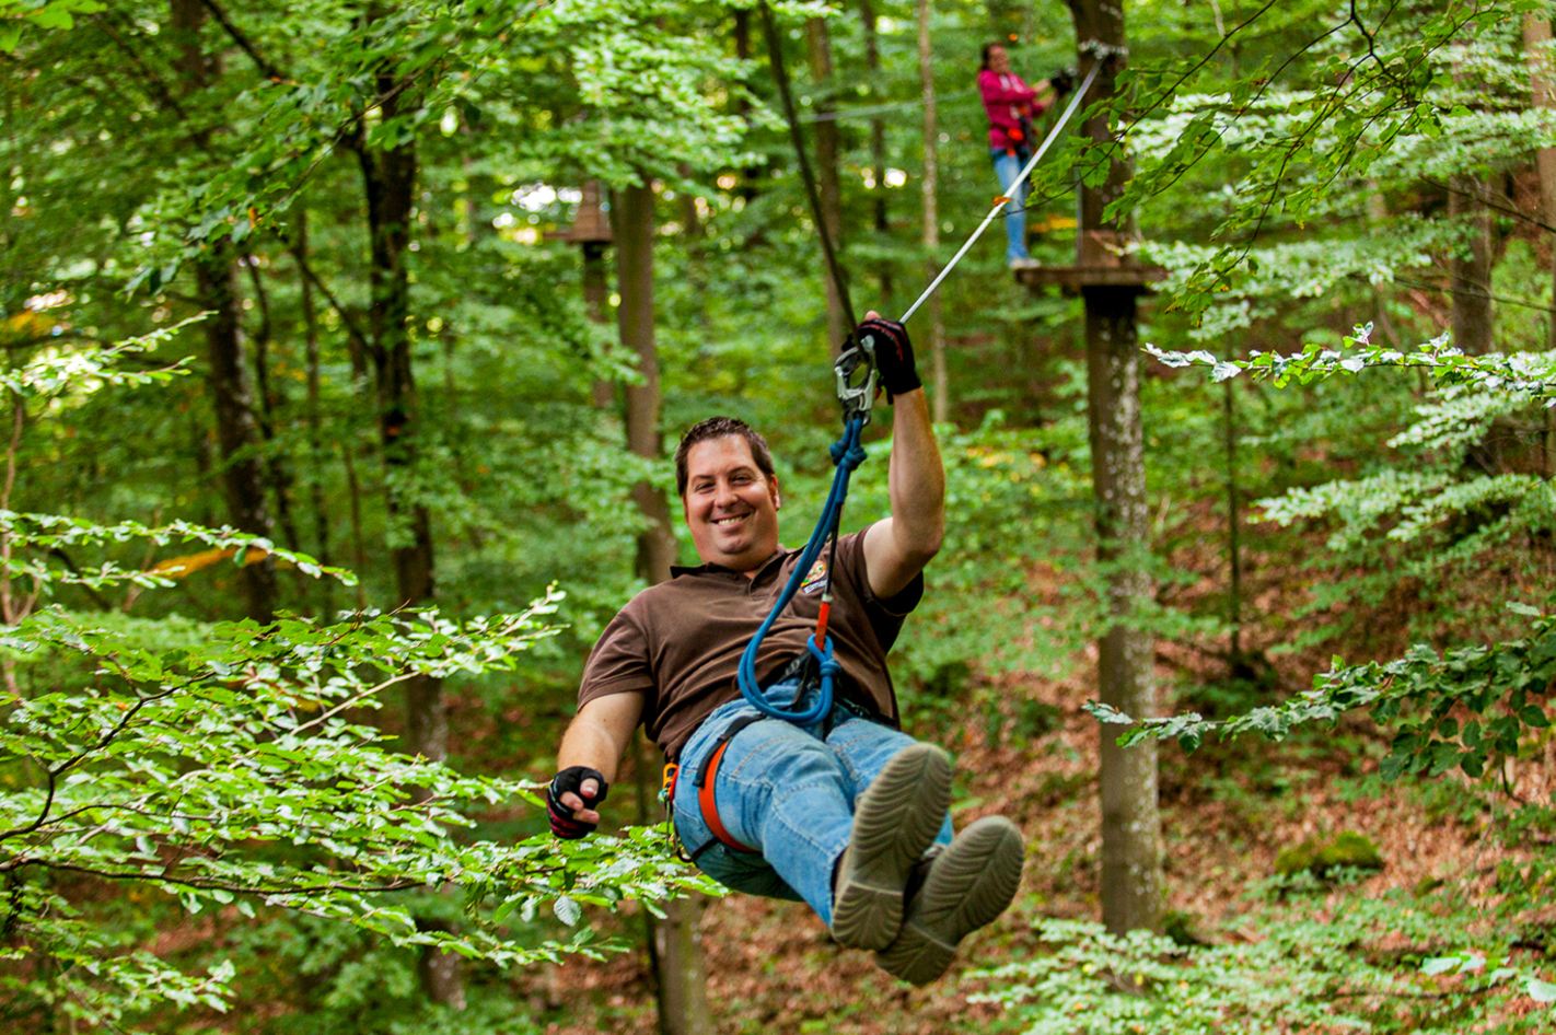
[[[949,528],[892,666],[1016,906],[910,990],[710,896],[652,750],[545,833],[594,637],[692,556],[666,444],[762,430],[790,545],[831,478],[758,8],[0,0],[5,1030],[1556,1027],[1547,3],[773,14],[860,314],[994,202],[979,48],[1106,68],[1030,247],[1150,291],[996,224],[909,324]]]

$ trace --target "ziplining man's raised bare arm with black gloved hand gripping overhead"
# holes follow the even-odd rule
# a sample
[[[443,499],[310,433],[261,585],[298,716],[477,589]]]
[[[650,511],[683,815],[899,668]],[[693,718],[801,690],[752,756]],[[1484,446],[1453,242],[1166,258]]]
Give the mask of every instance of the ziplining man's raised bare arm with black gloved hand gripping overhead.
[[[940,462],[929,398],[913,367],[907,330],[871,311],[859,325],[876,341],[876,366],[892,398],[892,517],[865,532],[865,570],[870,590],[881,599],[896,596],[940,551],[946,531],[946,468]]]

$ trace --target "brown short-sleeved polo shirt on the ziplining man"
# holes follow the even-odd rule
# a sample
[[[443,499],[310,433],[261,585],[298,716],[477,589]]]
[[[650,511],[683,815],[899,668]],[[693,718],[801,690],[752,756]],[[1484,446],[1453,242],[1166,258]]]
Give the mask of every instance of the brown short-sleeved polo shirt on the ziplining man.
[[[885,654],[902,619],[924,593],[924,579],[888,601],[876,599],[865,577],[864,532],[837,540],[832,610],[826,635],[842,666],[837,693],[898,722],[896,694]],[[708,713],[741,696],[736,669],[745,644],[772,612],[800,563],[798,549],[780,548],[755,579],[719,565],[672,568],[669,582],[632,598],[601,633],[579,686],[579,705],[610,694],[643,694],[643,727],[677,758]],[[756,657],[756,679],[766,685],[815,632],[822,590],[828,579],[826,551],[789,607],[767,630]]]

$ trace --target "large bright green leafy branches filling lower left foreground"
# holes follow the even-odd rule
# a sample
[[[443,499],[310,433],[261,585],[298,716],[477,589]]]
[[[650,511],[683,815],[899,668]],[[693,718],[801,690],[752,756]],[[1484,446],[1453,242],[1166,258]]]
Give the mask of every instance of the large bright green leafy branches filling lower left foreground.
[[[64,982],[84,1019],[117,1024],[160,999],[219,1009],[226,981],[115,951],[89,915],[104,886],[156,889],[188,912],[283,907],[496,963],[582,951],[512,943],[499,928],[512,910],[551,901],[571,924],[580,903],[652,909],[705,890],[654,830],[587,845],[470,839],[481,812],[538,808],[534,789],[409,758],[363,722],[412,675],[512,668],[552,633],[543,618],[560,596],[468,623],[223,623],[173,649],[58,607],[8,630],[0,652],[34,691],[0,699],[0,960]],[[467,923],[419,929],[405,892],[445,886],[464,890]]]

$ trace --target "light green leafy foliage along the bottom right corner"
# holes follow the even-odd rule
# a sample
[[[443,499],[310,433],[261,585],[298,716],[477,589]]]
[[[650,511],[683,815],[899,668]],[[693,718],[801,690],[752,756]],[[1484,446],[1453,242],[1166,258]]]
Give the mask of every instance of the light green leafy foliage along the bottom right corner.
[[[1301,889],[1298,889],[1301,890]],[[1405,900],[1413,903],[1413,900]],[[1502,965],[1488,974],[1460,956],[1418,965],[1430,948],[1397,957],[1379,953],[1380,932],[1411,946],[1447,946],[1463,939],[1455,918],[1404,907],[1399,898],[1343,898],[1333,904],[1299,900],[1285,912],[1256,910],[1259,939],[1229,945],[1183,946],[1148,931],[1117,937],[1097,923],[1041,920],[1035,934],[1047,951],[1008,967],[976,971],[990,990],[972,1002],[1001,1005],[1029,1035],[1134,1035],[1161,1032],[1288,1032],[1447,1029],[1470,1010],[1486,1018],[1519,991],[1536,1004],[1556,987],[1537,974]],[[1249,917],[1240,917],[1248,931]],[[1463,957],[1505,959],[1491,948]],[[1544,1030],[1531,1013],[1509,1027]]]

